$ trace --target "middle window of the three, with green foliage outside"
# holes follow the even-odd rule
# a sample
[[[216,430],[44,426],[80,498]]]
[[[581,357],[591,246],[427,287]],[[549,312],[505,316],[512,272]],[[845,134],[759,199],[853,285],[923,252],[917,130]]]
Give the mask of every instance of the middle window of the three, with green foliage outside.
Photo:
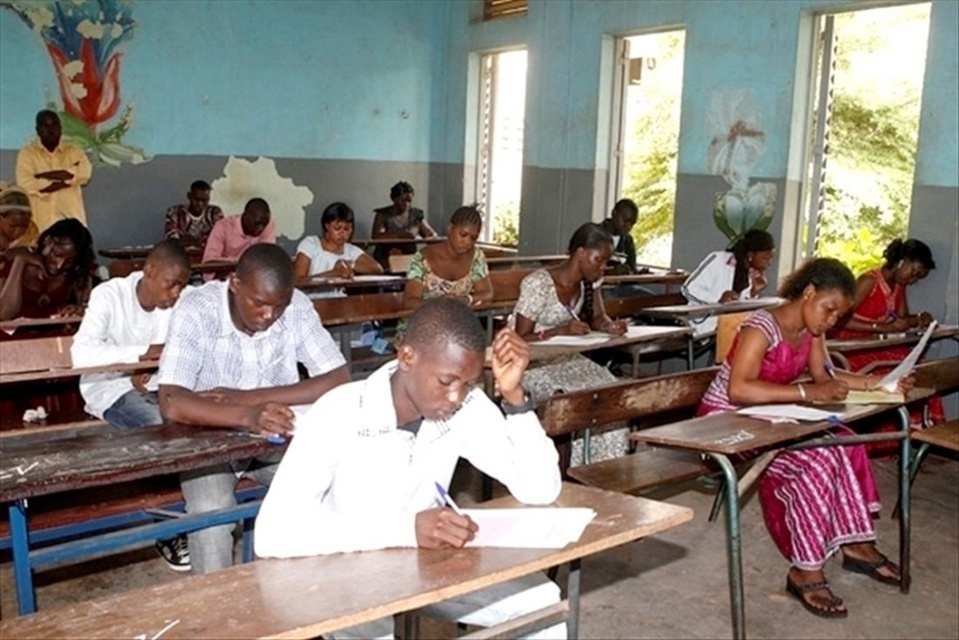
[[[639,206],[632,235],[643,264],[672,260],[685,41],[682,30],[616,41],[606,212],[620,198]]]

